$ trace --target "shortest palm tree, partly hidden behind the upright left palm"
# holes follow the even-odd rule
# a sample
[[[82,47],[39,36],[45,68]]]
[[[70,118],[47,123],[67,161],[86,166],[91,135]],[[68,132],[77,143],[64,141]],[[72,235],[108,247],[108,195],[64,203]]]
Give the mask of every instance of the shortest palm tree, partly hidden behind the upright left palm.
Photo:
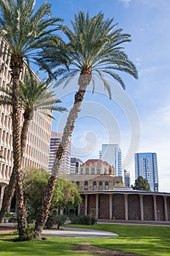
[[[49,91],[51,83],[44,81],[38,83],[37,80],[31,78],[30,75],[26,75],[25,79],[20,82],[20,108],[23,110],[23,127],[20,135],[20,157],[23,158],[23,152],[26,148],[26,140],[28,137],[28,127],[30,121],[33,118],[34,112],[40,115],[49,116],[54,118],[52,111],[63,112],[66,108],[58,106],[61,103],[59,99],[55,99],[53,91]],[[7,89],[1,88],[3,93],[0,99],[0,105],[11,105],[12,103],[12,86],[8,86]],[[4,216],[12,196],[15,191],[15,173],[12,171],[12,175],[7,186],[5,197],[0,211],[0,223]]]

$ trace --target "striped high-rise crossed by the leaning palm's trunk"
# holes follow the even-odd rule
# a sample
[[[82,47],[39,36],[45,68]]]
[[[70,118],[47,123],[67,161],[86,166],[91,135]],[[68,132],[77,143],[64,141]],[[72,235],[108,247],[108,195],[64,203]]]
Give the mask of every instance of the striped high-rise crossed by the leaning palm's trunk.
[[[48,164],[48,172],[51,173],[53,162],[55,159],[55,154],[58,149],[59,144],[61,143],[62,133],[51,132],[50,138],[50,155],[49,155],[49,164]],[[70,145],[71,139],[69,141],[69,146],[66,149],[65,156],[62,159],[60,166],[60,175],[69,174],[70,173]]]

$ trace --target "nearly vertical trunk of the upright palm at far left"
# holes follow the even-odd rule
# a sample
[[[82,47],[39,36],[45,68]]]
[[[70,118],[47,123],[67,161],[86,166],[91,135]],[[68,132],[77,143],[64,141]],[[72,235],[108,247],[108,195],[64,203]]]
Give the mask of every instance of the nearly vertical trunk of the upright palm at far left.
[[[11,58],[12,66],[12,146],[13,146],[13,171],[15,175],[15,190],[17,198],[17,219],[18,235],[23,240],[24,230],[27,226],[26,208],[23,204],[23,184],[21,176],[21,157],[20,157],[20,104],[19,104],[19,78],[20,63],[17,56]]]

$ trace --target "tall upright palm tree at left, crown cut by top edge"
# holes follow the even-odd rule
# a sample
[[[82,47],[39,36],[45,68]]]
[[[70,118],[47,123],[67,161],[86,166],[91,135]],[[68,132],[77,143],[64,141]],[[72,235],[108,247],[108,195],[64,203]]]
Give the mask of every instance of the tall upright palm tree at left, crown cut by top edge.
[[[7,40],[12,75],[12,146],[19,238],[23,238],[26,222],[26,208],[23,205],[23,189],[20,171],[20,102],[19,80],[23,61],[28,64],[35,60],[39,49],[47,46],[53,32],[58,29],[58,18],[50,18],[50,4],[45,2],[35,12],[34,0],[0,0],[0,36]]]

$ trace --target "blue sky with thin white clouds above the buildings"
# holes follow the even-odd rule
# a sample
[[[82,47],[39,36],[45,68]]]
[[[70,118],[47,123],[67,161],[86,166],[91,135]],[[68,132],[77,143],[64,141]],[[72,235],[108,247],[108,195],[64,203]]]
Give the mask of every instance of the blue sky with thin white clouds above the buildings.
[[[95,94],[89,86],[82,111],[72,135],[72,154],[98,158],[102,143],[119,143],[123,167],[134,183],[134,153],[155,152],[158,157],[159,190],[170,192],[170,1],[169,0],[50,0],[52,15],[69,26],[74,13],[89,11],[90,16],[104,12],[114,17],[117,28],[131,34],[125,52],[134,61],[139,79],[122,75],[126,90],[115,81],[112,99],[97,81]],[[37,6],[42,1],[36,1]],[[58,89],[63,105],[71,108],[77,80],[67,89]],[[53,130],[62,132],[66,115],[56,116]]]

